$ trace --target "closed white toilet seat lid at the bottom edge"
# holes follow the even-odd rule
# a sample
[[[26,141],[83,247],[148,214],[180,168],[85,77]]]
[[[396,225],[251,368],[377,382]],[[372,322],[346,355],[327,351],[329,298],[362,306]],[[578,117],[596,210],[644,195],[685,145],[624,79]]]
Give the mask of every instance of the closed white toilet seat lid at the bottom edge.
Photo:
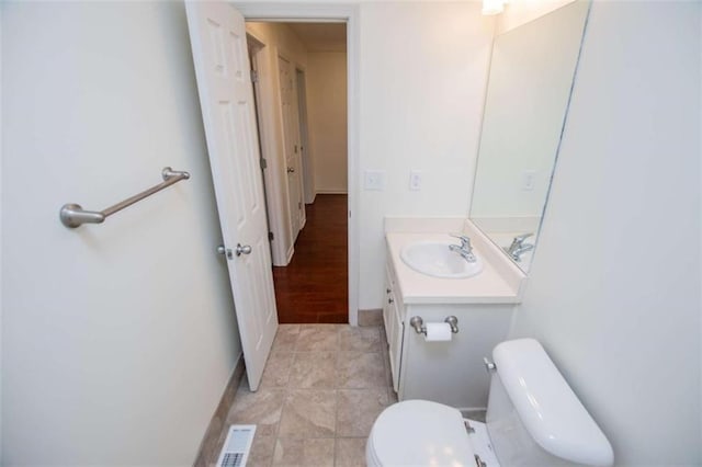
[[[463,417],[428,400],[405,400],[383,411],[366,445],[371,466],[474,466]]]

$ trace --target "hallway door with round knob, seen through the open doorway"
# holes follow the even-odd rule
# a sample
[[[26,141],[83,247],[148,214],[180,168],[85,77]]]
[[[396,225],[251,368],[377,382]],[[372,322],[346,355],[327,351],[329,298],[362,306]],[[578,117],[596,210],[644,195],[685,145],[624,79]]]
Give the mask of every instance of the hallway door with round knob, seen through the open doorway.
[[[302,228],[299,213],[303,209],[302,191],[299,190],[301,169],[297,163],[298,132],[295,118],[294,77],[290,61],[281,56],[278,57],[278,70],[280,75],[281,112],[283,114],[283,137],[287,170],[287,202],[290,204],[290,224],[294,243]]]

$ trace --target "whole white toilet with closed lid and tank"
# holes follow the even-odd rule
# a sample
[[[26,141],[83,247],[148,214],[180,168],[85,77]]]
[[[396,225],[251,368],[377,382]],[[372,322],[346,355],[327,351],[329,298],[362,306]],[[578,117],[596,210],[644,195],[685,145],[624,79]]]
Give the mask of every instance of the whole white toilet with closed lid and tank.
[[[541,344],[492,351],[487,423],[442,403],[406,400],[375,420],[369,466],[611,466],[612,446]],[[466,425],[467,423],[467,425]],[[467,428],[469,426],[469,428]]]

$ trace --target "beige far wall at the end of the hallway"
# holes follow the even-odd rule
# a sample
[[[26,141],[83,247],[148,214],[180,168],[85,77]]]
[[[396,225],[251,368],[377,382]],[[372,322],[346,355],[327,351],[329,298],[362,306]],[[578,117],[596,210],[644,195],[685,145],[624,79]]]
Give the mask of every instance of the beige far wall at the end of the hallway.
[[[307,116],[316,193],[346,193],[347,54],[308,54]]]

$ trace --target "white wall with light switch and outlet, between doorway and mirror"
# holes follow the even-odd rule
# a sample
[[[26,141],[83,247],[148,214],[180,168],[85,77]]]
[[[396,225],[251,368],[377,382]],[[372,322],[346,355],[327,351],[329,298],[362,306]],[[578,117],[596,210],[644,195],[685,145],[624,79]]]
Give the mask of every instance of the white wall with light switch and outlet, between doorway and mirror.
[[[382,307],[384,216],[467,210],[492,27],[479,2],[360,5],[359,190],[364,170],[385,172],[359,196],[361,309]]]

